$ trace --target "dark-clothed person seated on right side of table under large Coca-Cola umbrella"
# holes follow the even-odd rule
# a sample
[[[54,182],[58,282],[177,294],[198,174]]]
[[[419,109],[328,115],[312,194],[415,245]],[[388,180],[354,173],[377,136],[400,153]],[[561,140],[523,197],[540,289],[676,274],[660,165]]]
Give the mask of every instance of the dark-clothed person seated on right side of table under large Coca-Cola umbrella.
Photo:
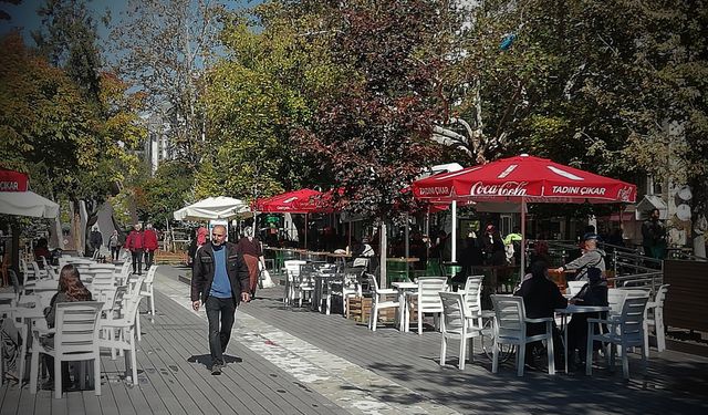
[[[583,286],[575,297],[570,300],[571,304],[576,305],[601,305],[607,307],[607,281],[602,278],[600,268],[590,268],[587,270],[589,282]],[[574,353],[577,350],[577,361],[580,367],[585,365],[585,353],[587,350],[587,319],[598,318],[600,313],[575,313],[568,324],[568,351],[570,353],[569,362],[571,367],[575,364]],[[597,324],[593,330],[598,332]],[[593,344],[593,350],[600,350],[600,342]]]

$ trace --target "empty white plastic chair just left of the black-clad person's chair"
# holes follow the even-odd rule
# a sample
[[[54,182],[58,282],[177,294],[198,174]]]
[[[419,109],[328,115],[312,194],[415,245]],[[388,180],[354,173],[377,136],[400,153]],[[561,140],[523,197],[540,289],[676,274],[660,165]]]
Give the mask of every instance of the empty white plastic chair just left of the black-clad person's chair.
[[[467,341],[470,340],[469,361],[475,361],[473,338],[481,335],[481,325],[475,324],[477,318],[468,314],[465,297],[461,292],[438,292],[442,303],[442,343],[440,345],[440,365],[445,365],[448,339],[460,341],[458,367],[465,370]]]

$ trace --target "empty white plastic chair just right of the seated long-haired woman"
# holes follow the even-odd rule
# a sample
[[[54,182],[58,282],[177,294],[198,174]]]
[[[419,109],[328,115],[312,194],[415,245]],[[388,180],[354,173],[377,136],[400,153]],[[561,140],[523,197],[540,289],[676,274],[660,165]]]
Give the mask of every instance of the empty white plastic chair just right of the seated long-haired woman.
[[[125,295],[124,315],[118,319],[102,320],[101,330],[103,335],[98,343],[101,347],[111,349],[111,359],[115,360],[115,351],[127,352],[125,354],[125,374],[129,374],[133,385],[137,386],[137,359],[135,355],[135,341],[137,330],[137,314],[140,300],[139,294]]]

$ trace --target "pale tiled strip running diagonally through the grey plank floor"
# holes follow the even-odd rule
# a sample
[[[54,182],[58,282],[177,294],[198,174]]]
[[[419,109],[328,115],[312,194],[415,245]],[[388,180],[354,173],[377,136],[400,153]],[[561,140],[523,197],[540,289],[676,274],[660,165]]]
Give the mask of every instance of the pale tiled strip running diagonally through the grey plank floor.
[[[188,289],[183,282],[158,272],[155,287],[185,309],[195,312],[190,308]],[[206,324],[207,317],[204,308],[198,314]],[[266,324],[246,312],[237,313],[233,339],[352,414],[458,414],[451,408],[420,396],[410,400],[415,404],[384,402],[369,391],[386,390],[387,394],[396,396],[418,394]]]

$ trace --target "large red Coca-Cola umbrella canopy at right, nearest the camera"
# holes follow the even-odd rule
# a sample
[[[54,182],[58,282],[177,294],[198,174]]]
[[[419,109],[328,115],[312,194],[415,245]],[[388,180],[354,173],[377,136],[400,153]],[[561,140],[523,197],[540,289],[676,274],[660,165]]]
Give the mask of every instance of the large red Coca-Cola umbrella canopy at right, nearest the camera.
[[[416,197],[530,203],[635,203],[635,185],[584,172],[548,158],[521,155],[413,183]]]

